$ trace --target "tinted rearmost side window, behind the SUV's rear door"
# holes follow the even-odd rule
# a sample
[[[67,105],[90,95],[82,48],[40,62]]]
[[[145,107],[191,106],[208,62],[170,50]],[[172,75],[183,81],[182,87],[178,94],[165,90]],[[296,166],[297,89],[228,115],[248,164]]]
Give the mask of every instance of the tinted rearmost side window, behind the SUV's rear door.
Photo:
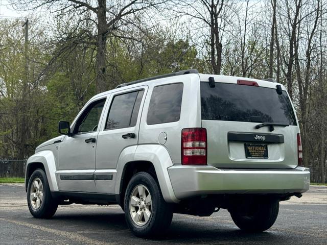
[[[165,124],[166,122],[178,121],[182,94],[182,83],[154,87],[149,104],[147,124]]]

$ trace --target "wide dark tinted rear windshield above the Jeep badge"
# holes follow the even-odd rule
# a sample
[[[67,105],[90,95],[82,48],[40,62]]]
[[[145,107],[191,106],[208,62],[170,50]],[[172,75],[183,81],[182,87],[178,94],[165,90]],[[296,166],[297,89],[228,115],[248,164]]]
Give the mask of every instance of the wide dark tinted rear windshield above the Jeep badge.
[[[201,82],[202,120],[275,122],[296,125],[286,91],[230,83]]]

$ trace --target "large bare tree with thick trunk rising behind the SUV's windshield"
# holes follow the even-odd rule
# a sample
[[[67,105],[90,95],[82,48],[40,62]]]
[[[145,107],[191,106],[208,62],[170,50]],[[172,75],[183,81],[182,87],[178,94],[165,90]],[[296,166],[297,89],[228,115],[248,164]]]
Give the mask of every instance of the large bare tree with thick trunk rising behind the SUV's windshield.
[[[115,35],[118,38],[131,38],[124,35],[124,26],[132,24],[129,17],[133,17],[137,12],[160,5],[162,1],[12,0],[12,3],[17,9],[50,9],[53,13],[57,13],[57,17],[60,18],[63,16],[77,16],[75,29],[85,21],[93,22],[97,30],[95,33],[92,33],[92,30],[84,29],[79,36],[69,33],[65,39],[74,39],[74,45],[87,43],[96,46],[96,87],[97,92],[102,92],[108,87],[106,81],[106,42],[108,35]]]

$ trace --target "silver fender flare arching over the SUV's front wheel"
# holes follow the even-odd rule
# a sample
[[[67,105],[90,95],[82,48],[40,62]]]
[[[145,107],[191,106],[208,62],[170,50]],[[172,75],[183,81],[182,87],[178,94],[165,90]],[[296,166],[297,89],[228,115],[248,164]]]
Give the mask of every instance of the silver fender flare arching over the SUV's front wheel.
[[[25,188],[27,189],[27,174],[29,168],[33,163],[42,163],[45,169],[46,177],[48,178],[49,187],[51,191],[58,191],[58,185],[56,180],[56,162],[52,151],[40,151],[32,155],[26,163],[26,173],[25,173]]]

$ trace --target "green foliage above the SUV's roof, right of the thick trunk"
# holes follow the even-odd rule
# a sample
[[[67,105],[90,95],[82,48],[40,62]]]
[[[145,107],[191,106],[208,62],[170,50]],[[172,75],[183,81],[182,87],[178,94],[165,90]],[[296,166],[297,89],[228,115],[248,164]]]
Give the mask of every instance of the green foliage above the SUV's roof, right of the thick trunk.
[[[139,38],[145,39],[142,43],[109,39],[108,89],[125,82],[197,68],[201,63],[189,40],[167,41],[153,34]]]

